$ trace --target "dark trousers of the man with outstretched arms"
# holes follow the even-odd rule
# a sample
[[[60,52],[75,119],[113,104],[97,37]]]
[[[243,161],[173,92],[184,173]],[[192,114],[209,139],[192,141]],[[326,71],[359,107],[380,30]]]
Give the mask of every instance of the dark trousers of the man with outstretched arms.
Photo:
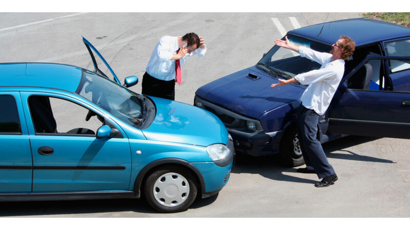
[[[298,112],[298,137],[304,162],[308,169],[314,169],[319,178],[335,174],[324,154],[322,145],[317,140],[317,123],[320,115],[300,104]]]

